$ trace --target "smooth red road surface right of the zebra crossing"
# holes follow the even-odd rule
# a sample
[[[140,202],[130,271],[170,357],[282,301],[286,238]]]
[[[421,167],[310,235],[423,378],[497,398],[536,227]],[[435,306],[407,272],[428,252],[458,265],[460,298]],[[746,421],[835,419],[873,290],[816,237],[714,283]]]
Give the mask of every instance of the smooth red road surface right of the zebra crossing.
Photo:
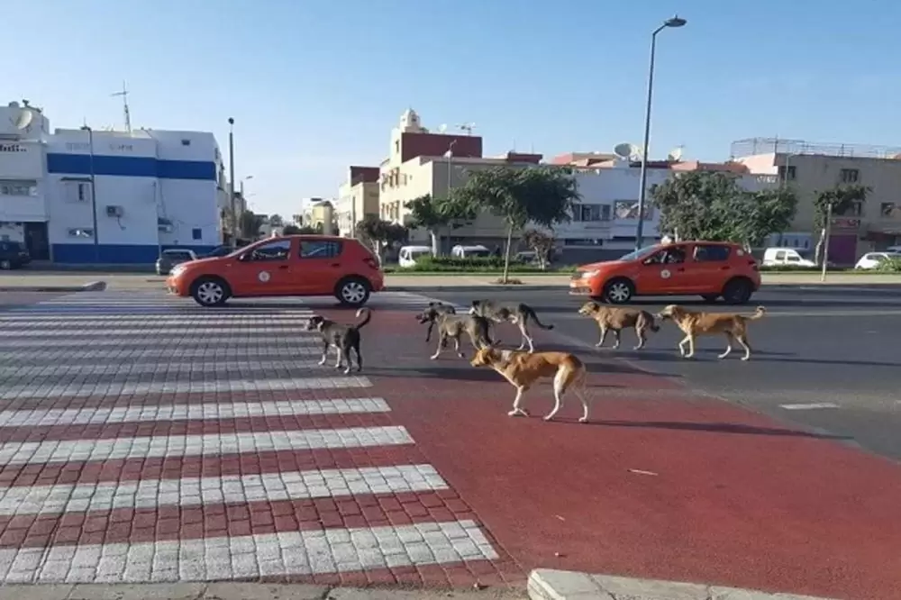
[[[429,360],[424,336],[411,313],[378,312],[364,331],[372,392],[520,577],[561,568],[882,599],[901,589],[896,463],[584,349],[590,423],[576,423],[575,397],[543,422],[550,386],[525,396],[531,418],[512,418],[512,386],[450,350]],[[565,348],[553,334],[536,342]]]

